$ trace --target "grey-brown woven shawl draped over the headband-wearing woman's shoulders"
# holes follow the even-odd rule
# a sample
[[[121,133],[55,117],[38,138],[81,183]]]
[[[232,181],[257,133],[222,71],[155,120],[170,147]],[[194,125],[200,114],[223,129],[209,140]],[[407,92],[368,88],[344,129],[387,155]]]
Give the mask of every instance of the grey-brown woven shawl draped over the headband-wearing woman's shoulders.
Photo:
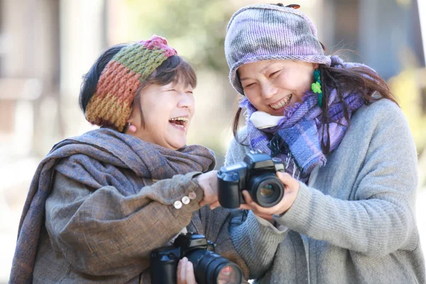
[[[60,163],[58,163],[60,162]],[[214,155],[202,146],[185,146],[177,151],[147,143],[111,129],[97,129],[65,139],[40,162],[23,206],[10,283],[31,283],[45,201],[55,170],[94,189],[111,185],[122,195],[138,188],[126,171],[139,178],[163,180],[173,175],[214,168]]]

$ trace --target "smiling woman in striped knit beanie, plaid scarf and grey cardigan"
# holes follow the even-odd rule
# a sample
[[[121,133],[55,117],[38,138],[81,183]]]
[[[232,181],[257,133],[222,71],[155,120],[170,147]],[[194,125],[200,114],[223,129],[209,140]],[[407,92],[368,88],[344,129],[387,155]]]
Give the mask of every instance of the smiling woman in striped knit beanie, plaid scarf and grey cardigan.
[[[246,6],[226,32],[229,79],[244,97],[225,163],[254,150],[286,166],[275,206],[244,192],[236,251],[256,283],[425,283],[407,121],[374,70],[324,55],[297,6]]]

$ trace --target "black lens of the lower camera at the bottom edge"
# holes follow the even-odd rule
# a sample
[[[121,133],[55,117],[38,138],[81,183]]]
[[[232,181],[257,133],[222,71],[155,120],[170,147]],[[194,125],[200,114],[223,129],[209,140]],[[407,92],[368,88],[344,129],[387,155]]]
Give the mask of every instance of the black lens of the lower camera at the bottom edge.
[[[195,280],[205,284],[239,284],[243,273],[228,259],[212,251],[197,249],[187,255],[194,264]]]

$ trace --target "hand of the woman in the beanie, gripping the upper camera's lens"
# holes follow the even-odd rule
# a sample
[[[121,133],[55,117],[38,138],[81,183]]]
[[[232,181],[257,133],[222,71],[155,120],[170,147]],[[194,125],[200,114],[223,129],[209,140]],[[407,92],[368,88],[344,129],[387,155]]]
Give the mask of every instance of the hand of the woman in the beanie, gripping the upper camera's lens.
[[[259,204],[253,201],[250,193],[247,190],[243,191],[245,204],[241,204],[240,209],[249,209],[253,211],[258,217],[263,219],[271,220],[274,214],[283,214],[286,212],[295,202],[297,193],[299,192],[299,182],[292,178],[288,173],[277,172],[278,178],[283,182],[284,185],[284,196],[283,199],[273,207],[261,207]]]

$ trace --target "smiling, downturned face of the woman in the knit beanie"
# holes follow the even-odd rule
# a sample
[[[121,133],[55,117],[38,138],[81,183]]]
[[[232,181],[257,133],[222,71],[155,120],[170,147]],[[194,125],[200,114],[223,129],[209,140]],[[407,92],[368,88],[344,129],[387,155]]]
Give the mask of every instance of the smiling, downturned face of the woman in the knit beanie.
[[[259,111],[282,116],[286,107],[302,102],[313,82],[316,63],[292,60],[263,60],[238,69],[247,99]]]

